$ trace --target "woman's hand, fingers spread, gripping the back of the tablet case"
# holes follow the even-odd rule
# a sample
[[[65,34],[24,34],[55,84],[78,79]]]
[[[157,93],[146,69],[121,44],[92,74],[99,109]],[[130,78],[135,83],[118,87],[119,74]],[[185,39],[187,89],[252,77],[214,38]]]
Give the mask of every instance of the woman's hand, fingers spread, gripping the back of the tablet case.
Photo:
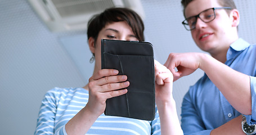
[[[89,100],[86,106],[93,114],[100,116],[104,113],[107,98],[127,93],[127,76],[117,74],[118,70],[102,69],[89,78]]]

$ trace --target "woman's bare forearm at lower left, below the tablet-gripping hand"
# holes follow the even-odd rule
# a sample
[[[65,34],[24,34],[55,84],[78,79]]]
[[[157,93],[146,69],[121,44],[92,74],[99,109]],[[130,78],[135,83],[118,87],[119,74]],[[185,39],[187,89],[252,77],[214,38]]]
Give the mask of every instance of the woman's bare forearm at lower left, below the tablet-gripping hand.
[[[86,106],[66,124],[66,133],[69,135],[86,134],[97,118],[98,115],[91,113]]]

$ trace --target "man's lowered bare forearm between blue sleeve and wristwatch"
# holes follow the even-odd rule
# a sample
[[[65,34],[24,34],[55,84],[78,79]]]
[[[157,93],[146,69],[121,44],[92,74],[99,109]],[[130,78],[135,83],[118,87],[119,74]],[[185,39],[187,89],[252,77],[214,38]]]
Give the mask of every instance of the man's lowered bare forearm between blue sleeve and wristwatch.
[[[242,116],[237,116],[237,118],[230,120],[230,122],[227,122],[223,124],[221,127],[218,127],[216,129],[213,129],[210,135],[233,135],[233,134],[245,134],[242,131]]]

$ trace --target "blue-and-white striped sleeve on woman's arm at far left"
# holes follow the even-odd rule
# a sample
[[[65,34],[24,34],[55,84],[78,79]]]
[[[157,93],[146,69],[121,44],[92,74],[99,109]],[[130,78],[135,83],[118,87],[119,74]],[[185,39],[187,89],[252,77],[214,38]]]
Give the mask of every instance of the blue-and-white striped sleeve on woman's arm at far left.
[[[37,119],[37,128],[35,129],[35,135],[39,134],[64,134],[63,128],[59,131],[55,131],[54,120],[56,115],[57,101],[55,91],[50,90],[46,93],[42,100],[42,105],[39,110]]]

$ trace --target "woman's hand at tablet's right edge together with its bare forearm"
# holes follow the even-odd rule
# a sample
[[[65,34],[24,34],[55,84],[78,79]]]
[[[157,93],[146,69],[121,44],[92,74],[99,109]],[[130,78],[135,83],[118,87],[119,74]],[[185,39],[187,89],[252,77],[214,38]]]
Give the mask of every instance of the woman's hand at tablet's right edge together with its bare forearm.
[[[182,135],[173,99],[173,75],[169,69],[155,60],[155,96],[161,123],[161,134]]]

